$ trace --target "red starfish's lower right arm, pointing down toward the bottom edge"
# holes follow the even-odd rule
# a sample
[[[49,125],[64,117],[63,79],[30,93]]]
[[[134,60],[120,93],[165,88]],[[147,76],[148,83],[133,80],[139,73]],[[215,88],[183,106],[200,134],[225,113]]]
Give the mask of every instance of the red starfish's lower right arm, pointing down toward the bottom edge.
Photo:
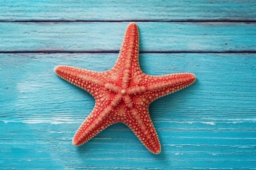
[[[137,111],[141,106],[135,106],[131,110],[130,119],[133,121],[126,122],[126,125],[135,133],[141,143],[152,153],[159,154],[161,152],[161,144],[150,119],[148,107],[145,107],[143,113]]]

